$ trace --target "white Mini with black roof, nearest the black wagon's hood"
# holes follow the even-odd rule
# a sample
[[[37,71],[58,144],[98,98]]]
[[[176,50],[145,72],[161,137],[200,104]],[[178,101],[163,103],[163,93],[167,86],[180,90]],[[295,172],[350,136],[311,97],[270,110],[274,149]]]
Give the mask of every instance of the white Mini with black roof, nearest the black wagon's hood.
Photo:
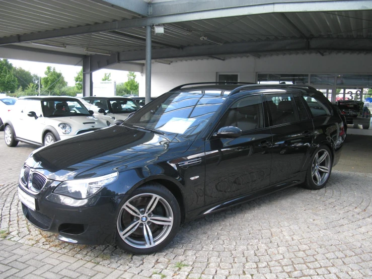
[[[17,146],[18,142],[47,146],[110,125],[93,113],[72,97],[20,98],[4,120],[5,143],[9,147]]]

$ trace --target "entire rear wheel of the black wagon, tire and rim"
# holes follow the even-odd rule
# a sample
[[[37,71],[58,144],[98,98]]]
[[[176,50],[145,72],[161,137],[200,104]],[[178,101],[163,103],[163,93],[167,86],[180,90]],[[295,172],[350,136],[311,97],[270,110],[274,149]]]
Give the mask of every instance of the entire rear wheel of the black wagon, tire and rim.
[[[328,155],[325,155],[322,160],[322,156],[326,153]],[[317,148],[317,150],[314,152],[314,155],[311,157],[311,161],[306,172],[304,186],[311,190],[322,189],[327,184],[328,179],[331,176],[332,163],[333,160],[330,149],[324,145]]]

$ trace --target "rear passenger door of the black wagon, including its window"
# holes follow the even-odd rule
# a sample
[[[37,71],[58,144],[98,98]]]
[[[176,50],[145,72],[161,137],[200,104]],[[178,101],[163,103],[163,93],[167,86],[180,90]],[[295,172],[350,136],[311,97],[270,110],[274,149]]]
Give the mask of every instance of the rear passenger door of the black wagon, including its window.
[[[266,94],[273,136],[271,184],[300,175],[311,152],[314,126],[305,104],[296,94]]]

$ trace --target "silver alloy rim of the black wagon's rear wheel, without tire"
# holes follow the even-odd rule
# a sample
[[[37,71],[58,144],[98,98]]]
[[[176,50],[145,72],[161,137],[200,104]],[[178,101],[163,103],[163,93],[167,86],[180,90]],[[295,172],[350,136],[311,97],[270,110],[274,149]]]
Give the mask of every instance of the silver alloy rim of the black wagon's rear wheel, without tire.
[[[315,155],[311,173],[313,181],[316,185],[320,186],[328,179],[331,170],[331,156],[325,149],[318,151]]]

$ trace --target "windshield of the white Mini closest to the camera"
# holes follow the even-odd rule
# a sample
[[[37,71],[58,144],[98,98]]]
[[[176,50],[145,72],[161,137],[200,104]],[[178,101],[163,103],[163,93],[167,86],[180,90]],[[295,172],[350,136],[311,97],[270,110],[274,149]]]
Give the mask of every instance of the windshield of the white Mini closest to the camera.
[[[90,116],[88,109],[79,100],[43,100],[44,117]]]

